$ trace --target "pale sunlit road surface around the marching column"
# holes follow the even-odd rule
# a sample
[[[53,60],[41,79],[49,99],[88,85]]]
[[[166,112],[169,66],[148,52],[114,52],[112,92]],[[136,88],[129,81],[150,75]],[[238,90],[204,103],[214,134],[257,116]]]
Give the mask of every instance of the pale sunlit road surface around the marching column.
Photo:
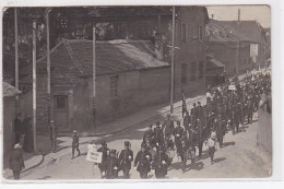
[[[180,119],[178,115],[175,117]],[[173,166],[167,178],[241,178],[241,177],[268,177],[271,168],[271,158],[259,151],[257,143],[258,122],[248,125],[244,131],[233,135],[229,131],[225,135],[225,147],[218,149],[215,153],[214,165],[210,164],[208,152],[202,154],[201,160],[188,165],[187,172],[182,173],[180,163],[174,158]],[[123,141],[129,140],[134,154],[140,150],[142,135],[146,128],[144,126],[125,130],[115,135],[105,137],[109,149],[122,150]],[[86,139],[87,140],[87,139]],[[90,139],[88,139],[90,140]],[[81,146],[86,152],[86,146]],[[99,179],[99,172],[93,164],[86,162],[86,155],[71,160],[71,154],[61,158],[48,162],[38,168],[23,176],[22,179]],[[119,173],[122,178],[122,173]],[[137,170],[131,170],[131,178],[139,178]],[[154,174],[150,173],[154,179]]]

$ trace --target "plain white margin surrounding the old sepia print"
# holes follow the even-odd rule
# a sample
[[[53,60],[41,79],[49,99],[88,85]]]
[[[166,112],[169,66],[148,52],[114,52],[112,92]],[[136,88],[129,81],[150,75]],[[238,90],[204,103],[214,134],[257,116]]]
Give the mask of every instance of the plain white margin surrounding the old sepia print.
[[[284,81],[284,78],[282,76],[282,73],[284,73],[284,67],[282,60],[283,60],[283,1],[281,0],[163,0],[163,1],[157,1],[157,0],[113,0],[113,1],[106,1],[106,0],[1,0],[0,1],[0,7],[3,9],[4,7],[61,7],[61,5],[173,5],[173,4],[179,4],[179,5],[192,5],[192,4],[203,4],[203,5],[224,5],[224,4],[269,4],[271,7],[271,31],[272,31],[272,90],[273,90],[273,175],[270,178],[235,178],[235,179],[193,179],[196,181],[204,181],[204,180],[238,180],[238,181],[250,181],[246,182],[247,186],[250,186],[250,184],[253,184],[257,180],[270,180],[270,181],[275,181],[275,180],[283,180],[284,178],[284,173],[283,173],[283,162],[284,160],[283,156],[283,129],[284,127],[284,121],[283,121],[283,116],[284,111],[281,108],[281,105],[283,104],[283,99],[281,96],[284,95],[284,84],[281,83],[281,81]],[[282,11],[282,12],[281,12]],[[2,14],[1,14],[1,21],[2,25]],[[281,31],[282,29],[282,31]],[[282,34],[282,35],[281,35]],[[0,31],[0,49],[2,51],[2,29]],[[281,54],[281,50],[283,51]],[[282,58],[282,59],[281,59]],[[2,54],[0,55],[0,60],[2,62]],[[0,68],[0,72],[2,74],[2,67]],[[0,82],[1,83],[1,82]],[[0,94],[2,95],[2,93]],[[1,96],[2,98],[2,96]],[[2,109],[2,104],[0,104],[0,108]],[[2,120],[2,114],[0,115],[0,119]],[[1,129],[2,131],[2,129]],[[1,132],[2,133],[2,132]],[[1,135],[1,142],[2,142],[2,135]],[[1,145],[1,154],[2,154],[2,145]],[[2,162],[2,156],[1,156],[1,162]],[[1,164],[2,168],[2,164]],[[187,180],[190,181],[190,186],[188,187],[193,187],[191,185],[196,184],[193,180]],[[85,182],[84,180],[75,180],[71,182]],[[125,182],[125,180],[122,180]],[[137,182],[141,180],[131,180],[131,182]],[[150,181],[150,180],[149,180]],[[153,180],[151,180],[153,181]],[[163,180],[163,181],[171,181],[171,180]],[[166,184],[166,187],[175,187],[177,182],[182,182],[186,180],[175,180],[174,186],[173,184]],[[252,182],[251,182],[252,181]],[[31,182],[31,181],[23,181],[23,182]],[[39,182],[50,182],[50,181],[39,181]],[[55,180],[52,182],[61,182],[60,180]],[[90,180],[87,181],[90,182]],[[118,184],[118,182],[116,182]],[[208,187],[211,188],[211,186],[215,182],[209,182]],[[224,184],[224,182],[223,182]],[[102,184],[100,184],[102,185]],[[119,184],[121,185],[121,184]],[[157,182],[154,182],[154,185],[157,185]],[[162,184],[158,184],[162,185]],[[232,187],[230,185],[239,185],[239,182],[234,182],[229,184],[227,187]],[[267,185],[267,184],[265,184]],[[27,186],[27,185],[26,185]],[[76,186],[72,184],[72,186]],[[143,186],[147,186],[147,184],[143,182]],[[11,185],[9,185],[11,187]],[[51,187],[50,185],[40,185],[40,187]],[[54,186],[52,186],[54,187]],[[61,186],[60,186],[61,187]],[[76,187],[82,187],[82,186],[76,186]],[[98,186],[96,186],[98,187]],[[110,184],[111,187],[111,184]],[[113,185],[115,187],[115,185]],[[137,187],[137,185],[133,185],[132,187]],[[143,187],[143,188],[144,188]],[[163,184],[163,187],[165,185]],[[260,184],[260,188],[264,187],[264,182]]]

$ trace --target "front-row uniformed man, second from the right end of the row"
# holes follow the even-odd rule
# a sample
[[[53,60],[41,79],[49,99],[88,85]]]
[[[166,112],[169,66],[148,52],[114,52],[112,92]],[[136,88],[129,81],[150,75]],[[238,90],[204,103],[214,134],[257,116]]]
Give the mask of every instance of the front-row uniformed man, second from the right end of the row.
[[[141,151],[135,156],[134,169],[140,173],[140,178],[147,178],[147,173],[151,170],[152,155],[145,150],[145,144],[141,144]]]

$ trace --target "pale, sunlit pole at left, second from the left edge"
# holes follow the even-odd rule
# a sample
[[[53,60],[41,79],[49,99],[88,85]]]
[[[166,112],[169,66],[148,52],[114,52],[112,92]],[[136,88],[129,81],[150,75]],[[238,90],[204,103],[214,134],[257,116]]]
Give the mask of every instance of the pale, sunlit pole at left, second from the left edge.
[[[36,152],[36,21],[33,21],[33,137]]]

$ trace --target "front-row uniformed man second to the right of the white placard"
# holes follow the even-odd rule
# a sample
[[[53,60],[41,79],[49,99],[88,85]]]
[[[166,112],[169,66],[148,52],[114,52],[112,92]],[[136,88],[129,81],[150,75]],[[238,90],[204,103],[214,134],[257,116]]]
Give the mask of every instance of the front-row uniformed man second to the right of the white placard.
[[[119,160],[117,158],[117,151],[111,150],[110,156],[106,160],[106,178],[107,179],[116,179],[118,178],[119,172]]]

